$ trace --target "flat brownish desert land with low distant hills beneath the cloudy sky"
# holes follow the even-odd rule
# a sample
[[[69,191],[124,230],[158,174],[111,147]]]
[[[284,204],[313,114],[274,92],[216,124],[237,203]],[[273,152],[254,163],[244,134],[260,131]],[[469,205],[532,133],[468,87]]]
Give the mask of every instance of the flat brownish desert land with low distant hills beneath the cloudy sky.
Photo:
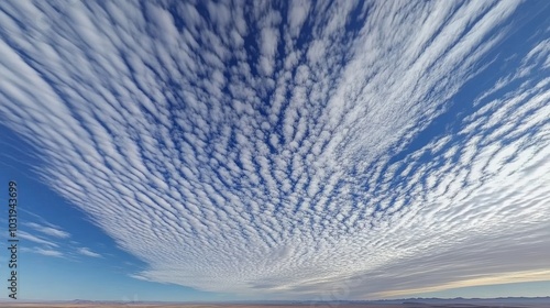
[[[0,307],[44,307],[44,308],[550,308],[550,297],[499,297],[499,298],[406,298],[388,300],[338,300],[338,301],[232,301],[232,302],[161,302],[161,301],[10,301],[0,300]]]

